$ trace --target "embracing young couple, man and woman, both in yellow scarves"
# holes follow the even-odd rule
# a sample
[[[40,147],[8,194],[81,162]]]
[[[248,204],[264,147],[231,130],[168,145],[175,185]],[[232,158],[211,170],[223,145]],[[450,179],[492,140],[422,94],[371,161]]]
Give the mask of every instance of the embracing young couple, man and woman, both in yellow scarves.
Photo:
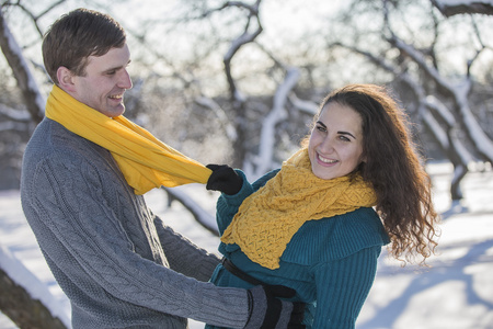
[[[85,9],[43,42],[54,81],[25,150],[25,216],[72,308],[73,328],[353,328],[381,247],[433,252],[429,178],[401,109],[355,84],[321,104],[279,170],[249,183],[203,164],[123,116],[124,29]],[[190,182],[221,191],[220,252],[193,245],[142,194]]]

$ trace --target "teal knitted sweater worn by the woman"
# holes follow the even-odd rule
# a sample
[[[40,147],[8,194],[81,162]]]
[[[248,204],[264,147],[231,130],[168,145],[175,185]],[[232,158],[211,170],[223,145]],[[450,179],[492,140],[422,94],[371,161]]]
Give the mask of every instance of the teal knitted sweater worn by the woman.
[[[231,223],[241,203],[263,186],[278,170],[253,184],[244,173],[236,195],[221,194],[217,202],[220,234]],[[381,247],[389,242],[380,218],[372,208],[309,220],[298,230],[280,257],[279,268],[270,270],[254,263],[237,245],[220,243],[219,251],[238,268],[264,282],[295,288],[294,300],[307,303],[307,328],[354,328],[377,271]],[[219,286],[251,287],[251,284],[218,265],[211,282]],[[206,328],[217,328],[207,326]]]

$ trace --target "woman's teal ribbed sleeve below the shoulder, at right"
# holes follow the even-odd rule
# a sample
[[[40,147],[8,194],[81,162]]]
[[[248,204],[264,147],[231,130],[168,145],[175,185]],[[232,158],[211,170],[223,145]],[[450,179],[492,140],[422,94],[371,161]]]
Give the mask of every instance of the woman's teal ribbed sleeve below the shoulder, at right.
[[[313,328],[352,329],[377,271],[380,247],[313,268],[317,310]]]

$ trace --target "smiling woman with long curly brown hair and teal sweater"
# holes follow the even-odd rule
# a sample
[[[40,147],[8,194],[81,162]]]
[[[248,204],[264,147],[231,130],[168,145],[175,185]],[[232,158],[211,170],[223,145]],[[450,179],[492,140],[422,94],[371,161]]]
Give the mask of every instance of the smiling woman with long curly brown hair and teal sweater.
[[[240,170],[208,167],[207,189],[222,192],[225,256],[211,282],[290,287],[308,305],[307,328],[354,328],[382,246],[422,263],[436,246],[431,180],[383,88],[352,84],[328,95],[308,145],[253,184]]]

